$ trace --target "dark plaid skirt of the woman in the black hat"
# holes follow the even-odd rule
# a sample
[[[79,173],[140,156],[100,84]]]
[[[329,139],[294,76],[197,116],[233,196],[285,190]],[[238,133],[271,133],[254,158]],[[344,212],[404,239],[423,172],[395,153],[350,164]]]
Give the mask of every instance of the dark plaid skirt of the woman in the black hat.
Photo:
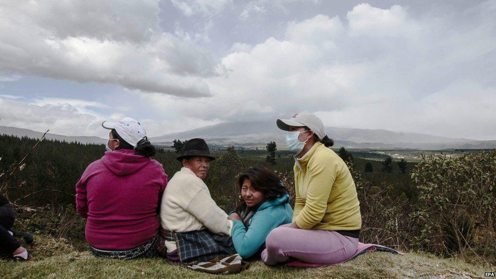
[[[181,263],[194,264],[207,262],[213,258],[225,258],[236,254],[229,235],[220,235],[209,230],[191,232],[163,231],[165,240],[176,242],[177,254]]]

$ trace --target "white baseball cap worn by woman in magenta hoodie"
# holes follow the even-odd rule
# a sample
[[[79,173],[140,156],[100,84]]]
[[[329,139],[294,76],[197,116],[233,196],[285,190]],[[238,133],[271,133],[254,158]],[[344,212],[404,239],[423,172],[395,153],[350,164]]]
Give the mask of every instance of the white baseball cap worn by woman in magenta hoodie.
[[[102,122],[102,127],[108,130],[114,129],[119,136],[127,143],[136,147],[138,142],[146,137],[146,131],[140,122],[131,117],[124,117],[118,121]]]

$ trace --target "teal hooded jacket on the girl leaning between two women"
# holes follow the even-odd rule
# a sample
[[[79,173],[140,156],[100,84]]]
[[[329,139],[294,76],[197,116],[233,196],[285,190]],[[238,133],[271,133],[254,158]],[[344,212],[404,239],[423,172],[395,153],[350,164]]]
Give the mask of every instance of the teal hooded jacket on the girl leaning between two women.
[[[253,256],[265,242],[269,232],[278,226],[291,223],[293,209],[289,205],[289,195],[264,202],[255,212],[246,229],[241,221],[233,221],[231,232],[236,252],[241,258]]]

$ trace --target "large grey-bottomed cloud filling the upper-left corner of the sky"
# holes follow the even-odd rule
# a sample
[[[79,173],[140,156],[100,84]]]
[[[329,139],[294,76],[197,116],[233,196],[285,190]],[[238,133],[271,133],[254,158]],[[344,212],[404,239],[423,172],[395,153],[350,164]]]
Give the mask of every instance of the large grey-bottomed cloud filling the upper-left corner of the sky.
[[[210,96],[216,61],[163,33],[158,1],[9,2],[0,8],[0,71]]]

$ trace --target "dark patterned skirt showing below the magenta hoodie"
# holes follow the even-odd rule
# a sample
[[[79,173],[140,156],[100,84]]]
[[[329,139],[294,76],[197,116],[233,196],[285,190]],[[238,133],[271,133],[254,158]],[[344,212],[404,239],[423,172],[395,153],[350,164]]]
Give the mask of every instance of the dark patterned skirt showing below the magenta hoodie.
[[[111,258],[111,259],[137,259],[137,258],[152,258],[157,256],[157,248],[159,246],[159,237],[154,236],[145,244],[129,250],[101,250],[89,246],[91,253],[95,257]]]

